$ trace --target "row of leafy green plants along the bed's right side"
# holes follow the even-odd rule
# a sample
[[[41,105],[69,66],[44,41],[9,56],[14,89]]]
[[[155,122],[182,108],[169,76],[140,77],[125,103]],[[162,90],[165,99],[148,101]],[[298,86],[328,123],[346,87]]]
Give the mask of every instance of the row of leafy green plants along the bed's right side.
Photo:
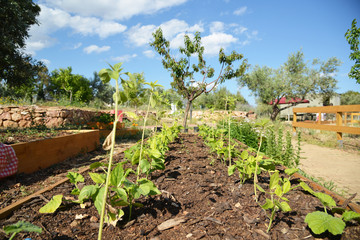
[[[268,139],[264,140],[266,131],[268,131],[268,128],[271,128],[268,121],[262,120],[254,124],[254,131],[259,134],[257,149],[252,147],[244,149],[244,147],[240,147],[238,142],[233,141],[232,138],[228,138],[229,140],[225,141],[224,139],[227,139],[232,132],[230,128],[224,129],[223,126],[224,125],[219,124],[217,128],[214,128],[207,125],[201,125],[199,127],[199,134],[203,137],[205,144],[216,154],[217,159],[220,159],[222,163],[228,161],[229,176],[237,171],[241,184],[245,182],[253,183],[255,201],[265,211],[266,216],[269,219],[268,232],[271,230],[272,223],[279,211],[292,211],[289,199],[286,195],[298,187],[301,187],[304,191],[318,198],[323,206],[323,211],[308,213],[305,218],[305,222],[313,233],[321,234],[328,231],[333,235],[338,235],[343,233],[347,223],[350,223],[353,220],[360,222],[359,213],[337,207],[336,202],[331,196],[314,191],[301,180],[299,180],[298,184],[292,184],[291,177],[298,171],[296,166],[294,166],[296,165],[296,162],[284,161],[284,157],[278,157],[284,152],[284,149],[290,148],[289,145],[285,144],[280,148],[276,144],[270,143]],[[277,138],[279,137],[282,137],[282,135],[277,136]],[[274,138],[270,139],[274,140]],[[270,145],[270,149],[275,157],[268,158],[265,156],[264,152],[260,151],[263,142],[267,142],[268,146],[272,144]],[[266,152],[266,149],[264,151]],[[289,158],[293,159],[292,156],[289,156]],[[214,163],[214,160],[212,163]],[[276,169],[276,166],[284,165],[284,163],[290,163],[288,165],[290,168],[286,168],[284,175],[282,175],[279,170]],[[269,176],[267,188],[262,187],[259,184],[258,176],[262,173]],[[260,203],[258,200],[258,191],[265,195],[265,203]]]

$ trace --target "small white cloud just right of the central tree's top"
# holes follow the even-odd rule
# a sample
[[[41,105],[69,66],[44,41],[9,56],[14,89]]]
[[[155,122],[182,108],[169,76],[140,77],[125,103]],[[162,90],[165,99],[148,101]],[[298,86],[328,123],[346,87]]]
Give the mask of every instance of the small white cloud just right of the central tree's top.
[[[205,47],[205,54],[216,55],[219,53],[220,48],[224,50],[232,43],[238,42],[234,36],[226,33],[212,33],[211,35],[202,38],[202,43]]]

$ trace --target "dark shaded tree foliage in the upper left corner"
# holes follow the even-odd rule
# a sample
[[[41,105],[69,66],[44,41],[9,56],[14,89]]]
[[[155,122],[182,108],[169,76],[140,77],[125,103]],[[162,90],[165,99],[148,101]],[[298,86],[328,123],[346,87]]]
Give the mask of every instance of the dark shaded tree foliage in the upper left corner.
[[[31,85],[37,62],[22,49],[30,26],[38,24],[40,7],[31,0],[0,0],[0,6],[0,79],[9,88]]]

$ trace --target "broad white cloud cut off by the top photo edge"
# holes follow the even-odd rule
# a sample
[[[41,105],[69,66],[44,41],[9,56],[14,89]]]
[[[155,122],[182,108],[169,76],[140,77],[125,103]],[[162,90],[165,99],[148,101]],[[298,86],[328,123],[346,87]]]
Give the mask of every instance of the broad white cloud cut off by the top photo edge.
[[[178,6],[187,0],[44,0],[48,5],[81,16],[125,20]]]

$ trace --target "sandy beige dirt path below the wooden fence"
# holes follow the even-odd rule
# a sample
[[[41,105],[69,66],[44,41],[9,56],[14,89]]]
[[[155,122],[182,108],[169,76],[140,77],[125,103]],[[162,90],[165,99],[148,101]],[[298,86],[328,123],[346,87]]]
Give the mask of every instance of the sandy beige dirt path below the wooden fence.
[[[300,168],[319,180],[332,181],[345,197],[357,193],[360,203],[360,155],[302,143]]]

